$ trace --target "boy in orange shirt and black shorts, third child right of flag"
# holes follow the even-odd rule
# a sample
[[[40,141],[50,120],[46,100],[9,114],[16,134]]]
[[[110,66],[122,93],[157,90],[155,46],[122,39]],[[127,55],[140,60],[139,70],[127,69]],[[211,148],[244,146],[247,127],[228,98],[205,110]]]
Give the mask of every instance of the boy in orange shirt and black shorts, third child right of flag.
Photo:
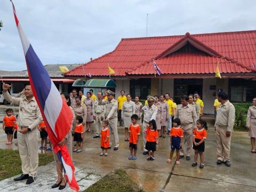
[[[129,149],[131,151],[131,156],[128,157],[128,159],[137,159],[136,157],[136,153],[137,153],[137,143],[139,141],[140,138],[140,125],[137,124],[138,122],[138,115],[133,114],[131,116],[131,120],[132,120],[132,124],[130,124],[129,127]]]

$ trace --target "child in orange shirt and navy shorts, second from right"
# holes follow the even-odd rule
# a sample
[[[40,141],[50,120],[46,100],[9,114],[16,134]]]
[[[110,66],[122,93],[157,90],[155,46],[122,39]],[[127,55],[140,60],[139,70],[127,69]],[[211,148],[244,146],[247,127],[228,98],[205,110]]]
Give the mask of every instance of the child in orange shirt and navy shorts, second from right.
[[[182,147],[183,141],[183,131],[180,128],[180,119],[173,119],[173,127],[170,132],[170,145],[171,145],[171,153],[170,158],[166,160],[167,163],[172,161],[172,156],[174,150],[176,149],[176,165],[180,164],[180,148]]]

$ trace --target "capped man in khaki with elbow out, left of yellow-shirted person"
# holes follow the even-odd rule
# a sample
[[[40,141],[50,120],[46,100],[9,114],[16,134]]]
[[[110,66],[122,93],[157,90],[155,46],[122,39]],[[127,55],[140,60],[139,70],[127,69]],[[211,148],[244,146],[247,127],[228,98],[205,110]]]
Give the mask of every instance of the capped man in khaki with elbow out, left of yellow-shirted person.
[[[119,138],[117,132],[117,101],[114,99],[115,93],[108,90],[108,100],[100,99],[98,105],[106,105],[106,119],[108,121],[110,128],[110,146],[111,146],[111,138],[114,133],[115,137],[115,146],[114,150],[118,150],[119,147]]]

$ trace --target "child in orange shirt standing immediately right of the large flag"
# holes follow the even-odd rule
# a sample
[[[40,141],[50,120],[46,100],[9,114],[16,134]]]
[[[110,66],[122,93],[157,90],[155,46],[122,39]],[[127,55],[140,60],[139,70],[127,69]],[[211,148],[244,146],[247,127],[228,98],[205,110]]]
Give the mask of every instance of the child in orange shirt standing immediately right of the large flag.
[[[83,137],[84,137],[84,126],[83,126],[83,117],[77,116],[76,117],[76,126],[74,129],[74,141],[76,141],[76,148],[73,152],[80,153],[82,152],[83,148]],[[78,149],[78,147],[80,148]]]

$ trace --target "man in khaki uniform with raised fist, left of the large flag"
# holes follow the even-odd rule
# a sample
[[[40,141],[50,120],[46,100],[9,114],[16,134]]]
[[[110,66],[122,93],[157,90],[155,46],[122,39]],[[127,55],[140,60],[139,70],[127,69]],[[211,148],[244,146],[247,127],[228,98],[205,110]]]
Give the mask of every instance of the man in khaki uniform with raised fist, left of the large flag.
[[[38,169],[36,130],[37,125],[43,121],[43,118],[30,85],[25,87],[25,97],[22,98],[11,97],[7,91],[10,87],[8,84],[3,84],[3,94],[7,101],[19,106],[17,138],[22,167],[22,174],[20,177],[14,178],[14,181],[27,179],[26,184],[30,184],[35,181]]]

